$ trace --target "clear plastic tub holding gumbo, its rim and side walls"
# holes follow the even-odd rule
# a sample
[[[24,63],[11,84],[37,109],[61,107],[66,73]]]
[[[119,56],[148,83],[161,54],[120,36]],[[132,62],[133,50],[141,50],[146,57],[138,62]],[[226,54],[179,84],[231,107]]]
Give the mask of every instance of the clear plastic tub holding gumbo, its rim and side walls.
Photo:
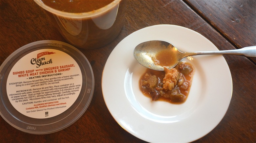
[[[123,26],[125,0],[113,0],[102,8],[82,13],[56,10],[41,0],[34,2],[46,10],[61,35],[78,48],[105,46],[117,37]],[[86,1],[81,1],[81,5],[86,6]]]

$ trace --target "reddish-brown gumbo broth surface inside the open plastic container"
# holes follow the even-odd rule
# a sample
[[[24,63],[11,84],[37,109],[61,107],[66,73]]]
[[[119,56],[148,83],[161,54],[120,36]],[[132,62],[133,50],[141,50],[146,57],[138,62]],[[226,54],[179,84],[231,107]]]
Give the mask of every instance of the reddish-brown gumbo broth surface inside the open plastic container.
[[[71,13],[89,12],[110,4],[114,0],[42,0],[51,8]]]

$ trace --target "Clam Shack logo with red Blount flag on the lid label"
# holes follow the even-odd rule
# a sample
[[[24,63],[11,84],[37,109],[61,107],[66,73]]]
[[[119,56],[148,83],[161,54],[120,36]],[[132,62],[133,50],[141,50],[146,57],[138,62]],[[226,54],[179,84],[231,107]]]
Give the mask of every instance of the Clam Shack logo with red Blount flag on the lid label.
[[[45,59],[45,57],[42,57],[42,56],[51,55],[51,54],[55,54],[55,53],[53,53],[53,52],[41,52],[41,53],[38,53],[36,58],[32,58],[30,60],[30,63],[32,65],[34,65],[34,64],[37,65],[36,66],[37,68],[39,68],[42,65],[51,64],[51,63],[53,63],[52,59],[47,60],[47,59]]]

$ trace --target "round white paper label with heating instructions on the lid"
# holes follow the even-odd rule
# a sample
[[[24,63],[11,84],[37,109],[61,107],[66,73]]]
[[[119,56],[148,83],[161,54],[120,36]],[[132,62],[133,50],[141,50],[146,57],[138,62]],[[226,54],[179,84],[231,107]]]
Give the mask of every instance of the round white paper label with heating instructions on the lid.
[[[17,111],[31,118],[44,119],[71,107],[81,86],[81,70],[70,55],[55,49],[42,49],[17,61],[9,73],[6,89]]]

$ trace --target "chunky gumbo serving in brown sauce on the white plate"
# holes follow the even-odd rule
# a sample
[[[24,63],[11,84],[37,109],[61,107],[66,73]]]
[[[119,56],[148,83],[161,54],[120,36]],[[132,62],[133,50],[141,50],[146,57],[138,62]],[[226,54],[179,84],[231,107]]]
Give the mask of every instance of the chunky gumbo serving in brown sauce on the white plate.
[[[184,61],[170,70],[166,67],[164,71],[147,69],[140,77],[140,90],[153,101],[183,103],[187,99],[194,71],[193,66]]]

